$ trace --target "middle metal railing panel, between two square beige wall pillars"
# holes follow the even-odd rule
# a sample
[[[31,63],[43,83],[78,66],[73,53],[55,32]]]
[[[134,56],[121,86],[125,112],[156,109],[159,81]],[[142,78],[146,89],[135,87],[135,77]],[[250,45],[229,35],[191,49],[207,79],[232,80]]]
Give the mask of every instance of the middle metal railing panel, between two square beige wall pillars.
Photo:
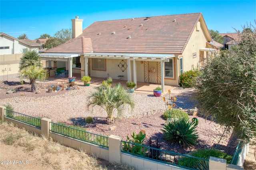
[[[108,148],[108,137],[104,135],[98,135],[88,131],[83,131],[81,129],[76,129],[74,127],[69,127],[66,125],[61,125],[58,123],[50,122],[51,132],[58,133],[73,139],[78,139],[80,141],[86,141],[88,143],[93,143],[101,147]]]

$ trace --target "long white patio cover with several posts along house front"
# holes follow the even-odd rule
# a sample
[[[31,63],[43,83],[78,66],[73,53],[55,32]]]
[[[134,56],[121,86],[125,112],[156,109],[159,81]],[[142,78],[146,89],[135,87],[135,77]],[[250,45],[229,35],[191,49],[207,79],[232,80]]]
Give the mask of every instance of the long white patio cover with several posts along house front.
[[[136,62],[135,61],[158,61],[161,63],[161,87],[164,92],[164,62],[169,62],[173,54],[145,54],[145,53],[84,53],[84,74],[88,76],[88,58],[102,59],[126,59],[128,81],[132,80],[131,61],[133,62],[133,80],[137,84]]]

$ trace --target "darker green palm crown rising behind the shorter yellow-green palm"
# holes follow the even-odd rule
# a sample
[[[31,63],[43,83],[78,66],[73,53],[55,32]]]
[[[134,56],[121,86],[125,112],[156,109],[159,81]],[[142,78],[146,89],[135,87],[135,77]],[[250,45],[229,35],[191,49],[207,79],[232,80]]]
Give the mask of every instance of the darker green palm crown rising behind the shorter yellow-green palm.
[[[38,52],[35,50],[30,50],[22,55],[22,58],[20,59],[20,70],[27,66],[35,65],[35,66],[42,66],[40,63],[41,59],[38,55]]]

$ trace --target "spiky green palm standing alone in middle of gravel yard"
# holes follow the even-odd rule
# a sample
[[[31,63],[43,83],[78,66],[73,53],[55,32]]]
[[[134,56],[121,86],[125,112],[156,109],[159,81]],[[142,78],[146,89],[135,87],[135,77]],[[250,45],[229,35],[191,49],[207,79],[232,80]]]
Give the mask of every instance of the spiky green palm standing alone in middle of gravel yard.
[[[134,108],[134,100],[132,94],[128,93],[120,83],[112,86],[100,86],[96,92],[88,96],[87,107],[96,105],[102,107],[107,112],[107,124],[114,123],[115,119],[122,116],[124,109],[130,106]],[[117,117],[114,117],[115,111]]]

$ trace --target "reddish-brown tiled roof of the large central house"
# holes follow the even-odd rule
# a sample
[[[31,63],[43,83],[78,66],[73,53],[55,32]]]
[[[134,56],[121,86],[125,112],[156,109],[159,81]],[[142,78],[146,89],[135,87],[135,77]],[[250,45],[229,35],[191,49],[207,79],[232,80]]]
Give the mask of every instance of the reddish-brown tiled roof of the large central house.
[[[97,21],[46,53],[182,54],[198,21],[208,31],[201,13]]]

